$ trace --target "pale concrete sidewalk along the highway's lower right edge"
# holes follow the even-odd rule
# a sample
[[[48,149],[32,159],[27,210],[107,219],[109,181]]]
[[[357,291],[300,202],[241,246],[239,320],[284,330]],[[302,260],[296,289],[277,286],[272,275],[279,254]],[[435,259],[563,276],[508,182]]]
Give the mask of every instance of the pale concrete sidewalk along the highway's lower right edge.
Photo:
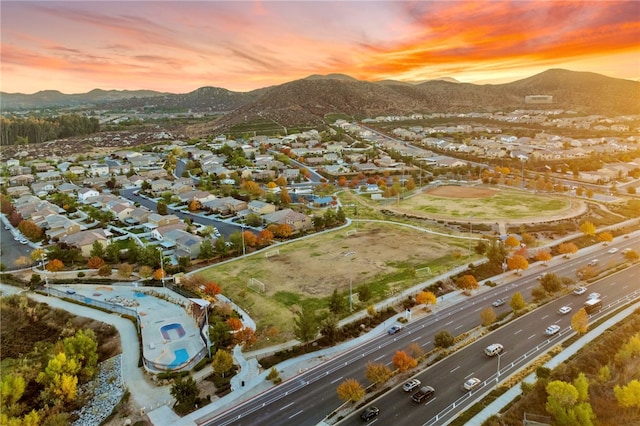
[[[640,303],[636,303],[633,306],[625,309],[624,311],[618,313],[617,315],[609,318],[593,330],[587,332],[584,336],[576,340],[571,346],[564,349],[558,355],[554,356],[549,362],[547,362],[544,366],[553,369],[558,365],[565,362],[567,359],[571,358],[575,355],[580,349],[582,349],[587,343],[592,341],[593,339],[600,336],[604,333],[609,327],[612,325],[624,320],[629,314],[633,313],[635,310],[640,308]],[[528,383],[534,383],[537,380],[536,373],[531,373],[527,377],[525,377],[522,381]],[[511,401],[517,398],[522,393],[522,387],[520,385],[516,385],[509,389],[507,392],[503,393],[499,398],[493,401],[491,404],[487,405],[484,410],[479,412],[474,418],[469,420],[466,425],[470,426],[481,426],[489,417],[497,414],[506,407]]]

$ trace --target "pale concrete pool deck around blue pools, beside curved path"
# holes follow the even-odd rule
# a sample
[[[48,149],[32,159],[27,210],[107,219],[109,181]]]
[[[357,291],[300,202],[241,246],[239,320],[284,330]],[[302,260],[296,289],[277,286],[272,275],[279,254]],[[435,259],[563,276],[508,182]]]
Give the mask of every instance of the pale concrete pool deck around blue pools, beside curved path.
[[[115,303],[135,310],[140,319],[142,353],[149,361],[175,368],[173,364],[177,358],[176,351],[182,355],[184,352],[180,350],[186,350],[190,359],[205,347],[194,318],[185,309],[191,302],[169,289],[94,284],[52,288],[60,291],[74,290],[84,298]],[[170,340],[165,339],[160,329],[169,324],[180,324],[185,331],[184,336],[178,338],[173,331],[170,333]]]

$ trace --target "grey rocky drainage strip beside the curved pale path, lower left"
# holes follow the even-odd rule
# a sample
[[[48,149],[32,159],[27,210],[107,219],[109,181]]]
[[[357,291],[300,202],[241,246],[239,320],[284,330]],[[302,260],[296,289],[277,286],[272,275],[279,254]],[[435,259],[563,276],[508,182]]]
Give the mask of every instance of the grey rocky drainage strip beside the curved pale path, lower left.
[[[100,363],[96,378],[81,386],[78,396],[87,398],[87,402],[73,413],[78,416],[73,426],[99,426],[120,402],[124,395],[121,357],[116,355]]]

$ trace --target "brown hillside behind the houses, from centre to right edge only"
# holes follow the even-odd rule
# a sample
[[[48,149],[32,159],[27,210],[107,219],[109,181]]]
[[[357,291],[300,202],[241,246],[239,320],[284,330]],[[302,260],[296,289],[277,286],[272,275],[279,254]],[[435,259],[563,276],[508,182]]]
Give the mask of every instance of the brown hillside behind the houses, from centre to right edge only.
[[[527,95],[551,95],[552,104],[525,103]],[[593,73],[548,70],[500,85],[431,80],[421,84],[307,78],[274,86],[255,102],[212,124],[208,131],[254,120],[283,126],[318,125],[331,113],[354,117],[430,112],[493,112],[512,109],[566,109],[582,114],[639,114],[640,83]]]

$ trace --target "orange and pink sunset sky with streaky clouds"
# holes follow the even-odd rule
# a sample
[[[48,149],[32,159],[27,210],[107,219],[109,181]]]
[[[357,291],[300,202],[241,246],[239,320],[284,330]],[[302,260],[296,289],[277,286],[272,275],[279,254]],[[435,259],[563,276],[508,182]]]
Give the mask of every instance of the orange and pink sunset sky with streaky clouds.
[[[640,2],[2,1],[0,89],[245,92],[311,74],[640,79]]]

